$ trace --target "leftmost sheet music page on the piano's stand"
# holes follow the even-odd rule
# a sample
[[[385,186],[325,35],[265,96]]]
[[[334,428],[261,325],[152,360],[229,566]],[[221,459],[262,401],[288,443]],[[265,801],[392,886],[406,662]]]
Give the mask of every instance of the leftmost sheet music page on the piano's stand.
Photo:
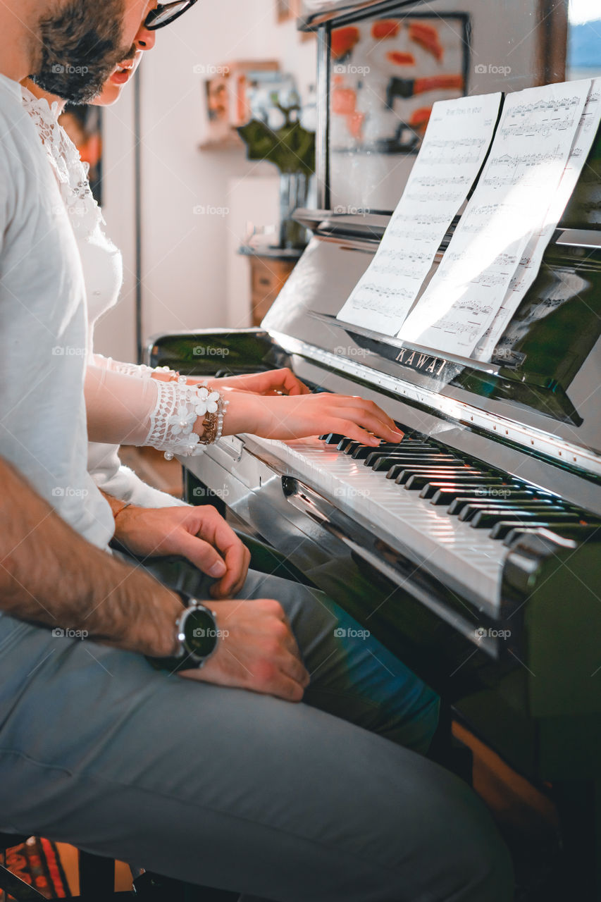
[[[486,94],[434,104],[402,198],[338,319],[398,332],[485,160],[500,103],[501,94]]]

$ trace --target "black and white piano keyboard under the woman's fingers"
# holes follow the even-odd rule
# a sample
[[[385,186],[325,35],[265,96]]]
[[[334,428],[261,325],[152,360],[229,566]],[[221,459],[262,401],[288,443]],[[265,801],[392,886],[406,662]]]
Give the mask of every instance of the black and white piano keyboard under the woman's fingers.
[[[546,528],[587,538],[601,527],[559,496],[429,437],[406,434],[400,445],[377,448],[337,435],[249,439],[269,447],[287,475],[392,537],[393,547],[490,613],[500,605],[507,546],[520,534]]]

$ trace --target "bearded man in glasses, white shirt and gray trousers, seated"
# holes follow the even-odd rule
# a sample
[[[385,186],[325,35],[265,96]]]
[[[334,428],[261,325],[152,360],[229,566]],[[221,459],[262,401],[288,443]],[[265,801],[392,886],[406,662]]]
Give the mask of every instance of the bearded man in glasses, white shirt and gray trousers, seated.
[[[504,902],[510,867],[487,815],[402,747],[424,741],[411,730],[431,696],[418,685],[408,697],[404,671],[383,676],[401,671],[377,644],[375,664],[337,644],[345,615],[323,596],[280,598],[271,580],[278,602],[211,602],[203,616],[220,638],[187,679],[143,657],[180,649],[184,602],[106,553],[115,528],[132,550],[154,548],[156,511],[106,503],[86,472],[83,362],[52,357],[83,345],[80,264],[17,82],[33,73],[65,97],[93,97],[132,44],[151,40],[152,6],[0,5],[0,442],[29,480],[0,464],[0,829],[254,897]],[[222,557],[217,594],[260,594],[214,511],[164,516],[163,552],[198,554],[208,570]],[[208,597],[191,567],[165,579]]]

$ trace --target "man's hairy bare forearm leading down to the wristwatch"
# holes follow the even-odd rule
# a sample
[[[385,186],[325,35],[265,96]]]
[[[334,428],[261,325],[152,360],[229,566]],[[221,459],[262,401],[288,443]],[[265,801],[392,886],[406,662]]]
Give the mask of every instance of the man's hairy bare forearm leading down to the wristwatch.
[[[0,458],[0,609],[20,620],[86,630],[90,639],[157,657],[174,651],[178,595],[142,568],[90,545]]]

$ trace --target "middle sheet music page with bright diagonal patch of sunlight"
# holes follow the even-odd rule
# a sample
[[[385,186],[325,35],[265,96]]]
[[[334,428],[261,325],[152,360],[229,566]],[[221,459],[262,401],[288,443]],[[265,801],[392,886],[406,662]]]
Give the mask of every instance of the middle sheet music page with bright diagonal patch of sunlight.
[[[470,356],[492,324],[566,168],[590,80],[505,97],[485,168],[430,285],[399,337]]]

